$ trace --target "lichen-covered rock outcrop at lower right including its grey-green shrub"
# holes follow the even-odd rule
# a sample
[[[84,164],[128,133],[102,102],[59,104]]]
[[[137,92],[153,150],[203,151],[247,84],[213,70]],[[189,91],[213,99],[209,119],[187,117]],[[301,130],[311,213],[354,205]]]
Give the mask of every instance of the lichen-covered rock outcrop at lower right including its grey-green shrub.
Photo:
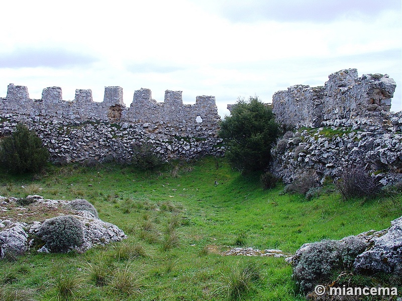
[[[381,231],[371,230],[339,241],[306,243],[285,260],[292,264],[293,277],[305,292],[326,283],[336,268],[402,277],[402,217]]]

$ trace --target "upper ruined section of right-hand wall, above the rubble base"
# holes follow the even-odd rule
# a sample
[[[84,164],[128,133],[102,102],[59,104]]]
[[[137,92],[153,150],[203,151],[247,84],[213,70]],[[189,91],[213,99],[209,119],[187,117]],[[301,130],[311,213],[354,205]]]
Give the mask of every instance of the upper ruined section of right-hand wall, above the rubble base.
[[[356,69],[333,73],[324,86],[295,85],[273,95],[277,122],[296,128],[353,125],[375,118],[391,107],[396,83],[388,75],[365,74]]]

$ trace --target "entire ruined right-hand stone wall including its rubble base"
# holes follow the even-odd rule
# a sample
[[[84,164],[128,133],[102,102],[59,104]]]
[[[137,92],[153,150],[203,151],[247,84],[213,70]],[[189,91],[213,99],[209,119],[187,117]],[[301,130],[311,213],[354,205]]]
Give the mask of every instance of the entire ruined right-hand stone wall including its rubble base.
[[[384,185],[402,181],[402,111],[389,112],[395,87],[387,75],[347,69],[322,87],[276,92],[276,121],[297,130],[272,149],[271,172],[285,183],[311,175],[322,182],[359,165]]]

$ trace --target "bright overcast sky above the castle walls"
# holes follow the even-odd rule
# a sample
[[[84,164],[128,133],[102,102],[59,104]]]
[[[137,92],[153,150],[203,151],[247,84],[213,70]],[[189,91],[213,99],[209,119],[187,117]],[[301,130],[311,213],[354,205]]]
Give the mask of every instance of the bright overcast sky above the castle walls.
[[[31,98],[60,86],[63,99],[105,86],[214,95],[221,117],[238,97],[295,84],[324,85],[346,68],[388,74],[402,109],[400,0],[142,0],[0,3],[0,97],[7,85]]]

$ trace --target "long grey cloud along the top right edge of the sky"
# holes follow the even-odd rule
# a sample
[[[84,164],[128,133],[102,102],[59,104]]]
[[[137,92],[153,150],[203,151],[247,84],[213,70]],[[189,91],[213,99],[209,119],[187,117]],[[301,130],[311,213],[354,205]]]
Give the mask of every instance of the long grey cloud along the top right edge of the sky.
[[[400,12],[400,0],[225,0],[220,7],[220,13],[233,22],[324,23],[341,17],[372,18],[384,10]]]

